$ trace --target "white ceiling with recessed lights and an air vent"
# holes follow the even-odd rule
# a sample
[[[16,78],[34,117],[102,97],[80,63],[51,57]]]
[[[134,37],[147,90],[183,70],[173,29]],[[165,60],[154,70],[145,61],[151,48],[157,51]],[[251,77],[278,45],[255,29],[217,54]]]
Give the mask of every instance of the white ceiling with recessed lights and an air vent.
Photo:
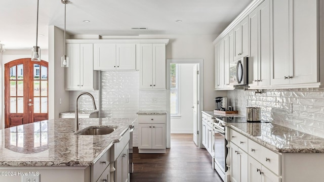
[[[215,34],[252,0],[70,0],[69,34],[138,36]],[[0,43],[6,49],[29,49],[36,41],[37,0],[1,0]],[[84,20],[91,22],[85,23]],[[175,20],[182,20],[181,23]],[[39,0],[38,46],[48,48],[48,26],[64,29],[61,0]],[[146,27],[147,30],[132,30]]]

